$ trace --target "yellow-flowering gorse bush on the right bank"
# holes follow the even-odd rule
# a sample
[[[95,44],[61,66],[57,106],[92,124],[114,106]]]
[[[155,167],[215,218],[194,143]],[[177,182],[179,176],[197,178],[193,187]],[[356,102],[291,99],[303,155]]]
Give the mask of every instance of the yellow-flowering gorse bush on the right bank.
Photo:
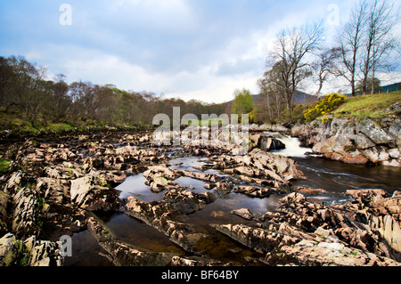
[[[307,121],[315,120],[315,118],[335,110],[344,99],[345,95],[340,93],[325,94],[322,100],[316,102],[315,107],[304,111],[304,117]]]

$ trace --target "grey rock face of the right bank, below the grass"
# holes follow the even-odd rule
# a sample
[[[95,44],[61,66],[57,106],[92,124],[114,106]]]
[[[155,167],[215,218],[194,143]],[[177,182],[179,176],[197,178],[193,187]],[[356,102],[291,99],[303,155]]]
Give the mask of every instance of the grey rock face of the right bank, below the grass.
[[[295,126],[291,135],[312,147],[325,158],[351,164],[401,166],[399,153],[401,118],[384,118],[381,125],[365,118],[333,118],[323,124],[321,119],[305,126]]]

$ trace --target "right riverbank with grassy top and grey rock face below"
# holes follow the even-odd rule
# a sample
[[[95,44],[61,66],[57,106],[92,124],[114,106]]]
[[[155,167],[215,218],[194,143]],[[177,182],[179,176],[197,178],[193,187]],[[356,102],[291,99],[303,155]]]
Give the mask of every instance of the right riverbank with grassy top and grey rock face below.
[[[401,92],[348,98],[336,110],[297,124],[313,153],[350,164],[401,166]]]

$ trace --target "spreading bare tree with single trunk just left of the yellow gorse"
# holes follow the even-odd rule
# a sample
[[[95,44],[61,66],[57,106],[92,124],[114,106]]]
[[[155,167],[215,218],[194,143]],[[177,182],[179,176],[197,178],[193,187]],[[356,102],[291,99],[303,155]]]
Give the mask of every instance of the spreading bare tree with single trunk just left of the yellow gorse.
[[[307,54],[314,53],[324,34],[323,21],[299,28],[282,29],[276,37],[274,49],[267,53],[268,67],[280,72],[277,84],[282,86],[287,111],[291,116],[293,96],[299,83],[311,73]]]

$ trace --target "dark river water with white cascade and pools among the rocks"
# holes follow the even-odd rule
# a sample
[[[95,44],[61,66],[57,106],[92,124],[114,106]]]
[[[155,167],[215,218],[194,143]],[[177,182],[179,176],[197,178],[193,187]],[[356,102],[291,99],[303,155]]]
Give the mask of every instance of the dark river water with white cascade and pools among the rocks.
[[[294,158],[299,163],[299,168],[307,176],[305,181],[295,181],[293,185],[315,189],[324,189],[327,193],[315,197],[330,203],[345,202],[349,199],[344,194],[349,189],[380,188],[392,193],[399,190],[401,176],[398,168],[386,166],[361,166],[348,165],[337,161],[318,158],[305,154],[308,148],[299,147],[299,140],[279,133],[266,133],[281,140],[285,150],[276,150],[275,154]],[[181,157],[169,161],[169,165],[176,169],[199,172],[193,168],[196,165],[205,165],[207,158]],[[220,174],[217,170],[205,171],[210,174]],[[154,193],[149,186],[144,184],[142,174],[135,174],[127,178],[117,188],[120,199],[135,196],[144,201],[160,201],[164,192]],[[175,183],[192,187],[194,192],[207,191],[202,182],[190,177],[179,177]],[[282,196],[271,195],[266,199],[254,199],[241,193],[231,192],[221,199],[209,204],[204,209],[187,215],[186,223],[191,223],[196,231],[208,235],[196,249],[203,255],[220,260],[222,262],[234,262],[234,264],[250,263],[250,257],[256,253],[241,246],[233,239],[217,232],[209,226],[209,223],[247,223],[237,215],[231,214],[234,209],[249,208],[256,215],[263,215],[266,211],[272,211],[277,207],[278,199]],[[124,213],[113,213],[101,216],[102,221],[115,233],[118,239],[130,243],[136,247],[143,247],[153,251],[171,252],[177,256],[187,256],[187,253],[172,243],[167,236],[151,226],[130,217]],[[103,250],[88,231],[82,231],[72,236],[73,256],[65,258],[65,265],[111,265],[106,257],[102,256]]]

